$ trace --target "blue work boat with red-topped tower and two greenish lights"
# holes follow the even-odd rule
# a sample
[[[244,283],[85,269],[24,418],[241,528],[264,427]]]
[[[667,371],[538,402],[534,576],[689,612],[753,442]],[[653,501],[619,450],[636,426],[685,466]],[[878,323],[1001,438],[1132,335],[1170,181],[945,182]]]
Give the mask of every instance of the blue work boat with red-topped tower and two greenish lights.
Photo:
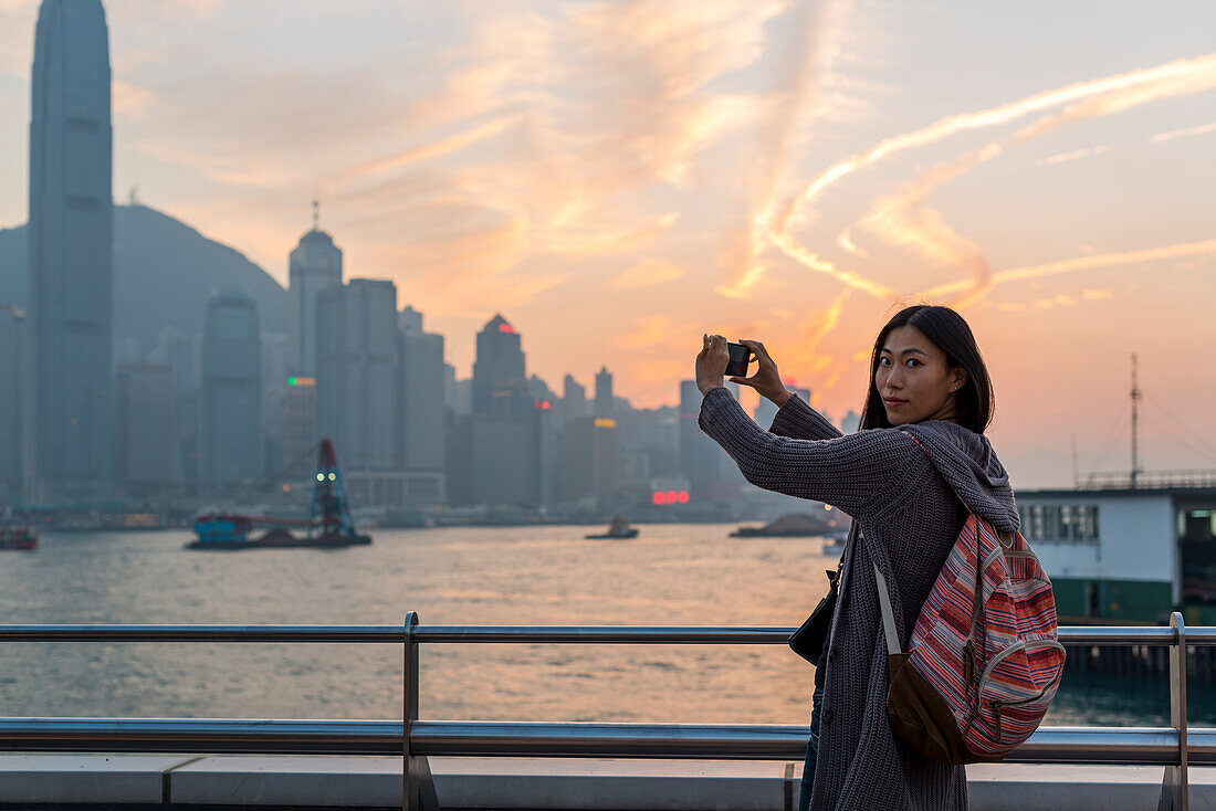
[[[252,539],[255,524],[265,525],[266,531],[260,537]],[[294,535],[291,526],[304,528],[303,535]],[[186,544],[187,550],[336,548],[367,546],[372,542],[371,536],[355,531],[338,457],[328,439],[321,440],[317,451],[316,485],[313,489],[313,507],[308,520],[207,513],[195,522],[195,534],[198,540]]]

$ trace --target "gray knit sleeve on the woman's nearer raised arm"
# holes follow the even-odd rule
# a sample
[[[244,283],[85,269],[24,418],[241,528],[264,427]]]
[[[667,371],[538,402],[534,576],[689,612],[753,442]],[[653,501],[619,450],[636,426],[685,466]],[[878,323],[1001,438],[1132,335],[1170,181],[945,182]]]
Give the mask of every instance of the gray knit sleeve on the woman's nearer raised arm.
[[[865,517],[900,496],[896,485],[918,452],[896,430],[861,430],[834,439],[777,437],[755,424],[725,388],[700,404],[700,429],[764,490],[811,499]]]

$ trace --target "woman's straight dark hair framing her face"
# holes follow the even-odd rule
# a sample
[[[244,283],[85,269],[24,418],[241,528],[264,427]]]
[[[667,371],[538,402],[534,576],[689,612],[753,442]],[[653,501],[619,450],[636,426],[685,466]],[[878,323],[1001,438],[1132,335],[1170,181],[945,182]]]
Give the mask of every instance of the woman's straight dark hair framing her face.
[[[874,384],[878,372],[878,359],[891,330],[913,326],[924,333],[925,338],[946,354],[951,368],[962,366],[967,371],[967,381],[955,394],[957,398],[958,424],[983,434],[992,422],[992,379],[987,366],[980,355],[972,328],[948,306],[930,306],[917,304],[896,312],[874,342],[874,351],[869,357],[869,383],[866,389],[866,406],[861,412],[861,428],[890,428],[883,396]]]

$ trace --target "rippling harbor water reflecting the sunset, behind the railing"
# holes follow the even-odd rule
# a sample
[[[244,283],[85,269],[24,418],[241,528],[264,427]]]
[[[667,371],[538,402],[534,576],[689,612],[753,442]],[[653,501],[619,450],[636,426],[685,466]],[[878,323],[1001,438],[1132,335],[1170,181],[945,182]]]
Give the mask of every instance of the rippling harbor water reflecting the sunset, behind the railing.
[[[835,561],[733,525],[376,530],[370,547],[182,550],[186,531],[49,534],[0,554],[0,623],[800,624]],[[399,719],[396,644],[0,643],[0,715]],[[807,723],[784,646],[423,646],[430,719]],[[1193,691],[1197,688],[1192,688]],[[1207,692],[1195,720],[1216,721]],[[1212,715],[1214,717],[1209,717]],[[1069,675],[1047,723],[1160,725],[1160,683]]]

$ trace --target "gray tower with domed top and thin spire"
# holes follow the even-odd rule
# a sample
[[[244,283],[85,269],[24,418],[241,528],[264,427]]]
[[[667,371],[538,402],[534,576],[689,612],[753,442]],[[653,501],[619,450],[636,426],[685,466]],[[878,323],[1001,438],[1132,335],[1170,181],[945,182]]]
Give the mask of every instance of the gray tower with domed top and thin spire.
[[[313,197],[313,230],[292,250],[288,297],[291,347],[287,362],[293,374],[316,374],[316,297],[342,285],[342,249],[321,230],[321,203]]]

